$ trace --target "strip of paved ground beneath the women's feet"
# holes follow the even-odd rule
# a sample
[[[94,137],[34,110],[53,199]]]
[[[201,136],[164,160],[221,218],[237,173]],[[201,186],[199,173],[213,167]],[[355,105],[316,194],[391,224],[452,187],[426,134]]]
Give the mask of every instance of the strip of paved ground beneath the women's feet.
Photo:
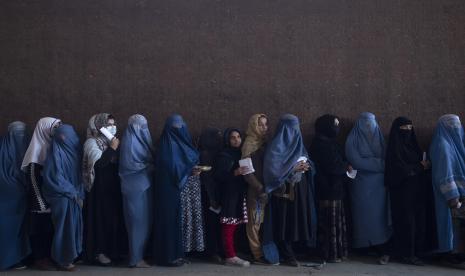
[[[236,268],[223,265],[208,264],[193,261],[191,264],[180,268],[152,267],[147,269],[130,269],[125,267],[103,268],[96,266],[78,265],[78,271],[69,272],[41,272],[36,270],[0,272],[0,275],[410,275],[410,276],[454,276],[465,275],[465,270],[446,268],[435,265],[416,267],[399,263],[390,263],[380,266],[375,259],[369,257],[354,257],[350,261],[341,264],[328,264],[321,270],[308,267],[265,267],[251,266],[249,268]]]

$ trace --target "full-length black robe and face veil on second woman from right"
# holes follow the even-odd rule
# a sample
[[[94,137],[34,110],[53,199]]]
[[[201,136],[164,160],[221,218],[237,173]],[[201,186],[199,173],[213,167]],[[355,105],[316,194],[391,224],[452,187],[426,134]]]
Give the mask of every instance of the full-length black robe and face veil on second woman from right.
[[[411,258],[431,249],[434,235],[431,180],[420,163],[423,156],[415,131],[401,129],[412,121],[399,117],[392,123],[386,151],[385,185],[391,198],[394,255]]]

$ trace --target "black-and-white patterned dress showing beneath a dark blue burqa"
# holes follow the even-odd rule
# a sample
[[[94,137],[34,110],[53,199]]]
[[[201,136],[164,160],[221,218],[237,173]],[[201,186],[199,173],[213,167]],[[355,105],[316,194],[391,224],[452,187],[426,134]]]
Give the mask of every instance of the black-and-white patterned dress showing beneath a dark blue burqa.
[[[205,249],[200,176],[189,176],[181,191],[184,252]]]

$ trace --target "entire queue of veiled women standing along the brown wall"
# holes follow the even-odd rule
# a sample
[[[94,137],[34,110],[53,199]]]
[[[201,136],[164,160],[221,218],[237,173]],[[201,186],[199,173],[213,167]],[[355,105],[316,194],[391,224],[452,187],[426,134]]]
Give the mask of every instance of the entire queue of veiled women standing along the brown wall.
[[[465,136],[442,116],[429,150],[412,121],[387,143],[362,113],[338,144],[340,119],[323,115],[306,148],[299,119],[283,115],[268,138],[265,114],[247,131],[205,129],[194,145],[180,115],[155,145],[142,115],[118,138],[107,113],[89,120],[81,146],[70,125],[13,122],[0,140],[0,269],[75,270],[75,263],[182,266],[328,263],[349,250],[413,265],[465,262]],[[244,231],[242,231],[244,230]],[[240,241],[249,252],[237,253]],[[244,254],[249,253],[249,255]],[[245,257],[244,257],[245,256]]]

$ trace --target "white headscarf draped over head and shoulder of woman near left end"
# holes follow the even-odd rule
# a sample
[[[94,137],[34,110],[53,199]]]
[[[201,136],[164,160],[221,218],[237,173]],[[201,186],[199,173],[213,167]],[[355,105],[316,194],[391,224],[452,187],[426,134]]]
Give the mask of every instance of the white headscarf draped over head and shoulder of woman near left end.
[[[23,171],[27,171],[27,166],[31,163],[44,165],[48,148],[52,140],[53,128],[60,123],[60,119],[51,117],[42,118],[37,122],[31,143],[29,144],[21,165]]]

